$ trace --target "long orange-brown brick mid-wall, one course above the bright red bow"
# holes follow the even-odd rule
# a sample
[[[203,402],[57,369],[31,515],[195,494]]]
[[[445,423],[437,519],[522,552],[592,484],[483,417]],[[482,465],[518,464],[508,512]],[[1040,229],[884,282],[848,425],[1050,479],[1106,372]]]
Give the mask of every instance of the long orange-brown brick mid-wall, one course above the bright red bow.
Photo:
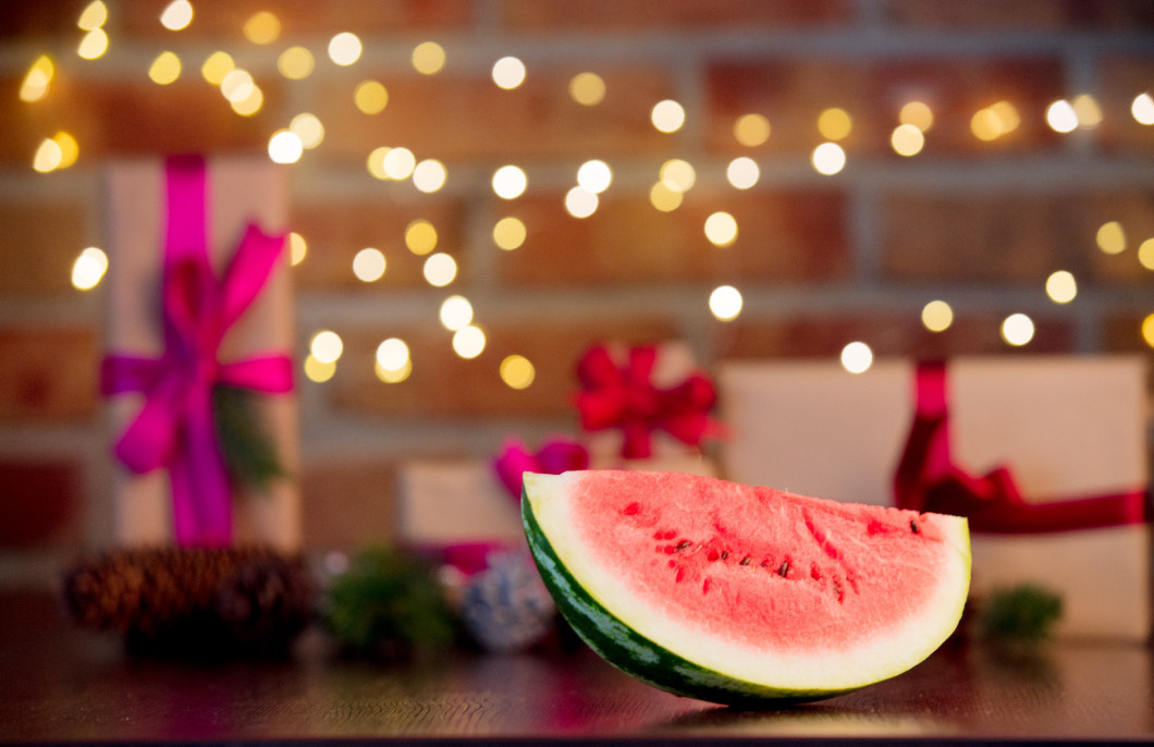
[[[610,191],[591,217],[574,218],[563,195],[533,195],[507,210],[522,218],[527,238],[502,252],[499,267],[518,286],[837,279],[850,270],[845,202],[835,188],[695,188],[680,208],[661,212],[647,195]],[[719,210],[737,222],[737,240],[725,248],[704,232]]]

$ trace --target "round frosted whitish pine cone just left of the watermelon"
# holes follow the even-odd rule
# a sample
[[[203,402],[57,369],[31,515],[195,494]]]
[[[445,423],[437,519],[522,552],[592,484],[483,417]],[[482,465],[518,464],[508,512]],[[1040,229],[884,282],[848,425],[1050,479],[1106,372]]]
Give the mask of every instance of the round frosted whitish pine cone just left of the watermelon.
[[[530,648],[552,629],[555,605],[523,553],[492,555],[462,597],[466,629],[490,651]]]

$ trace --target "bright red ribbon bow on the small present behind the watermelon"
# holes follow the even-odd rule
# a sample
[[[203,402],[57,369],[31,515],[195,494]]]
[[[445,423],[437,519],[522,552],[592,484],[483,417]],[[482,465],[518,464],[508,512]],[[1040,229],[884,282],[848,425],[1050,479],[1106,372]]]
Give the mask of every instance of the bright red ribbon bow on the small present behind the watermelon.
[[[713,382],[694,373],[670,389],[654,387],[651,378],[657,352],[654,345],[632,348],[625,365],[619,366],[608,349],[597,345],[577,364],[582,428],[620,427],[621,456],[627,460],[652,455],[651,435],[655,429],[696,447],[712,428],[709,411],[717,402]]]

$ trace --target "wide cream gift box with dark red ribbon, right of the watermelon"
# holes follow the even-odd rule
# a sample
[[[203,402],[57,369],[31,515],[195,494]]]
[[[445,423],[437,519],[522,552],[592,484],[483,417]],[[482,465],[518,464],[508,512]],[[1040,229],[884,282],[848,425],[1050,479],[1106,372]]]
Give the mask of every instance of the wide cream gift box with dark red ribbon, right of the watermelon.
[[[973,593],[1058,593],[1062,637],[1145,641],[1151,545],[1144,359],[733,361],[729,479],[969,516]]]

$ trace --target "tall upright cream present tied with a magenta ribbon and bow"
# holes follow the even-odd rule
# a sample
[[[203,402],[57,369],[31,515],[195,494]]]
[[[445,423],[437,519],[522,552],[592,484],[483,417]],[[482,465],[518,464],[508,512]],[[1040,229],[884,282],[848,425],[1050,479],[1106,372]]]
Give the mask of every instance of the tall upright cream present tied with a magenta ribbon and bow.
[[[297,547],[287,256],[258,227],[286,222],[282,169],[126,162],[105,187],[113,540]]]

